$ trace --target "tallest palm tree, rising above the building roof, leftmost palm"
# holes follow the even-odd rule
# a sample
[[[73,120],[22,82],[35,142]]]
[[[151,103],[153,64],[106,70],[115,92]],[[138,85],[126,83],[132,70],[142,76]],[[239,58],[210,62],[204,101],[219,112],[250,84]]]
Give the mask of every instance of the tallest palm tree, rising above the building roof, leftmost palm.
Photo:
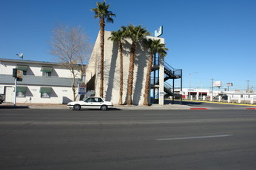
[[[97,8],[92,8],[92,11],[95,12],[95,19],[99,19],[100,27],[100,48],[101,48],[101,57],[100,57],[100,97],[103,97],[103,82],[104,82],[104,32],[105,32],[105,19],[107,22],[114,22],[112,16],[116,16],[111,11],[109,11],[109,5],[106,5],[106,2],[96,2]]]

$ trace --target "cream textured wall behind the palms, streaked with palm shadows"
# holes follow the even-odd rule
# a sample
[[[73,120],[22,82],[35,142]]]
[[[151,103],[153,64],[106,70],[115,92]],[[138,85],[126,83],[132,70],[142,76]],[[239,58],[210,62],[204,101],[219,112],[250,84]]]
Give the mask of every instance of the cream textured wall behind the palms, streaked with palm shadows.
[[[109,40],[111,32],[105,32],[105,56],[104,56],[104,98],[111,100],[113,104],[119,101],[119,53],[118,43]],[[147,38],[153,38],[148,36]],[[154,39],[159,39],[154,37]],[[161,39],[164,43],[164,39]],[[95,76],[95,96],[99,96],[100,88],[100,36],[95,41],[92,56],[89,59],[86,70],[86,82]],[[130,64],[131,40],[123,41],[123,102],[126,101],[128,89],[128,74]],[[133,74],[133,104],[140,105],[144,101],[144,88],[147,73],[147,61],[150,54],[147,49],[137,44],[134,74]]]

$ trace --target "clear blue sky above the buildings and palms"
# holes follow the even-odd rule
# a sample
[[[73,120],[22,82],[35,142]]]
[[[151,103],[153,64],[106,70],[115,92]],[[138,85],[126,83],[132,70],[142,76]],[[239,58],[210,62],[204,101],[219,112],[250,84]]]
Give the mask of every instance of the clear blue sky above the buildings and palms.
[[[0,0],[0,58],[54,61],[49,53],[57,24],[81,26],[95,42],[97,0]],[[99,1],[102,2],[102,1]],[[256,87],[255,0],[106,0],[116,14],[106,30],[164,26],[166,61],[183,70],[183,87],[209,88],[211,80],[234,83],[230,90]]]

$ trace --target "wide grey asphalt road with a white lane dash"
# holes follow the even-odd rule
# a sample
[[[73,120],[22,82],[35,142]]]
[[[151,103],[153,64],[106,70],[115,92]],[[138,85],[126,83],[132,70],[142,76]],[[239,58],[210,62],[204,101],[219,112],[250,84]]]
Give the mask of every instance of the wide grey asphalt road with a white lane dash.
[[[0,110],[0,169],[256,169],[256,110]]]

